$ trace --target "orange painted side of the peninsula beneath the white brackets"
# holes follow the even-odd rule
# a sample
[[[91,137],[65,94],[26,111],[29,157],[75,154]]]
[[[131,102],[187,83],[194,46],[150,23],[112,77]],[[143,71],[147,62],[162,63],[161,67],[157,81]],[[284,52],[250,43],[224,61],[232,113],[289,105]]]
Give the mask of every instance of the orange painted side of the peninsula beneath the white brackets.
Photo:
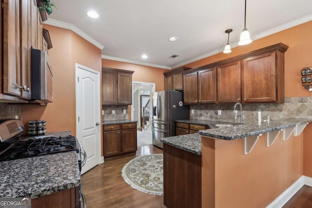
[[[303,135],[266,147],[265,134],[243,154],[243,141],[202,136],[202,207],[266,207],[303,174]]]

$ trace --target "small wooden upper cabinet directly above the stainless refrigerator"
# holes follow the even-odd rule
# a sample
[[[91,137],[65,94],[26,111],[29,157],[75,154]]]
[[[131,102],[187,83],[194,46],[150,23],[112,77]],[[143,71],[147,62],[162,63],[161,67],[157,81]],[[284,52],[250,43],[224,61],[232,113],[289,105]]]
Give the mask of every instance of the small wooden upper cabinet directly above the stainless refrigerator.
[[[183,90],[183,71],[189,67],[179,67],[164,73],[165,90]]]

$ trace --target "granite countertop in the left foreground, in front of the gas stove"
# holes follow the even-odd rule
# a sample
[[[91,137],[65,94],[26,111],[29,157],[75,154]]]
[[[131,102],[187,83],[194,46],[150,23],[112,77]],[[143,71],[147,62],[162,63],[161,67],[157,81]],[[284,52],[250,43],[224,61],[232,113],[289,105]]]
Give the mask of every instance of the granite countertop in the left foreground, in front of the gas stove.
[[[76,151],[0,162],[0,197],[36,198],[80,183]]]

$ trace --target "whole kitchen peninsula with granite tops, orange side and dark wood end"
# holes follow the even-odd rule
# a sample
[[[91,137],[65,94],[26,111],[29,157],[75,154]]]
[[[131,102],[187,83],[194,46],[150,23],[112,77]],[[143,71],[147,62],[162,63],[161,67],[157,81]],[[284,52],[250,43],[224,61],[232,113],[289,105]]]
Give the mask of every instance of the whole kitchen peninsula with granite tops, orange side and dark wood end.
[[[242,124],[202,130],[199,131],[201,143],[193,134],[161,139],[164,143],[164,204],[170,208],[176,207],[174,204],[178,199],[187,204],[188,199],[185,198],[199,194],[201,202],[194,204],[194,207],[268,206],[303,175],[301,132],[310,122],[312,119],[285,119],[262,122],[261,125]],[[201,152],[201,156],[187,151],[190,144],[196,142],[201,144],[200,148],[195,148],[198,153]],[[179,160],[179,155],[185,152],[188,157],[182,156]],[[195,159],[191,160],[192,157]],[[180,163],[174,164],[177,162]],[[197,175],[191,174],[195,171],[194,167]],[[166,192],[166,189],[174,190],[170,187],[172,183],[168,183],[170,180],[167,177],[170,175],[166,175],[166,168],[170,169],[170,175],[181,170],[189,173],[180,180],[181,184],[186,184],[186,188],[189,184],[196,184],[188,192],[189,195],[179,197],[180,190]],[[201,192],[195,194],[196,189]]]

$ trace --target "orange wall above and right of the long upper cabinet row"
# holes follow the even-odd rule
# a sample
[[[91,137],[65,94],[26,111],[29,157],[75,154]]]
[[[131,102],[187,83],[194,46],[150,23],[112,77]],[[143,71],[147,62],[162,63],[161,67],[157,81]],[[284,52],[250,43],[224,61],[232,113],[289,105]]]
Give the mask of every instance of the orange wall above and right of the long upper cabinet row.
[[[282,42],[289,46],[285,53],[285,96],[311,96],[311,93],[302,87],[300,74],[301,69],[307,64],[312,66],[311,34],[312,21],[309,21],[265,38],[254,40],[249,45],[233,48],[230,54],[219,53],[185,66],[196,68]]]

